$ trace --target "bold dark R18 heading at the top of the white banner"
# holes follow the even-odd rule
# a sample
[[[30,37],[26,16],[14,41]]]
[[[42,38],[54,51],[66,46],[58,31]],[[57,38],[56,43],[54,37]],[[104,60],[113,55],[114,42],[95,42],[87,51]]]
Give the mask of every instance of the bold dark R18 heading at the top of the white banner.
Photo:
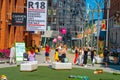
[[[45,2],[28,2],[28,8],[45,9]]]

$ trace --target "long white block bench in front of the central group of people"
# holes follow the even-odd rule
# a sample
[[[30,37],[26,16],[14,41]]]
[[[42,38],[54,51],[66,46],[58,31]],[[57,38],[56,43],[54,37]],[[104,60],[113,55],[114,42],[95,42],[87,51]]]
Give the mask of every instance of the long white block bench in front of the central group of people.
[[[72,63],[53,62],[53,69],[72,69]]]

